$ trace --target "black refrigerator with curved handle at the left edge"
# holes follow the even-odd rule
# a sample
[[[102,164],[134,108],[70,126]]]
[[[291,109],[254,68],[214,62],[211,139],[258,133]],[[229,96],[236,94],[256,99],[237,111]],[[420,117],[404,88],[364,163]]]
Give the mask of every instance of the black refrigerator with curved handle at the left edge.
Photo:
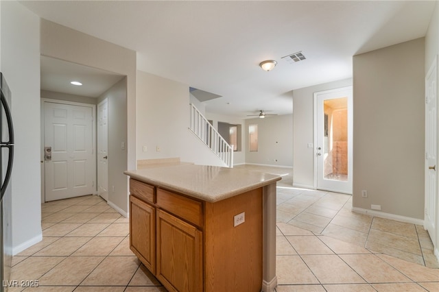
[[[9,184],[14,158],[14,129],[10,112],[11,92],[0,72],[0,291],[6,291],[12,263],[12,193]]]

